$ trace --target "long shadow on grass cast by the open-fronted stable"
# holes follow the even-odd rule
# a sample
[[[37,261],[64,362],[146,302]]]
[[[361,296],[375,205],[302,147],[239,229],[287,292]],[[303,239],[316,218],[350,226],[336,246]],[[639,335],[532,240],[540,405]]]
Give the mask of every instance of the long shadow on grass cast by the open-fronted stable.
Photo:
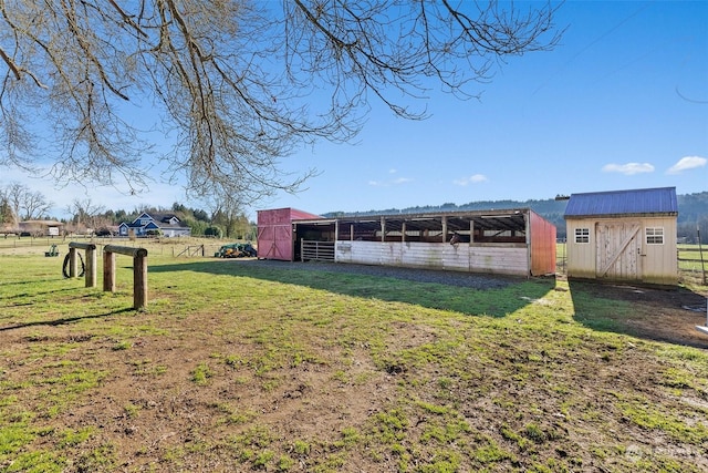
[[[469,273],[351,264],[221,260],[150,266],[152,274],[197,271],[304,286],[344,296],[412,304],[475,316],[504,317],[542,298],[554,278],[503,277]],[[247,289],[244,289],[247,290]]]

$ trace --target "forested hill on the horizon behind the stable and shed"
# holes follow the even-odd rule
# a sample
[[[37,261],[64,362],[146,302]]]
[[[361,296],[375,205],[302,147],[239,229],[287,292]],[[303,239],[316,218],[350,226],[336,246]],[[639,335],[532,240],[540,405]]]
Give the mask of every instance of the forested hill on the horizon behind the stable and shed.
[[[678,199],[678,236],[688,241],[696,239],[696,226],[700,226],[701,239],[708,239],[708,192],[697,194],[677,195]],[[464,212],[464,210],[491,210],[503,208],[531,208],[535,213],[550,220],[558,228],[558,236],[565,236],[565,205],[568,200],[555,200],[552,198],[544,200],[479,200],[468,204],[447,203],[442,205],[426,205],[407,208],[385,208],[379,210],[357,212],[355,215],[382,215],[382,214],[423,214],[430,212]],[[351,213],[331,212],[324,217],[339,217],[353,215]]]

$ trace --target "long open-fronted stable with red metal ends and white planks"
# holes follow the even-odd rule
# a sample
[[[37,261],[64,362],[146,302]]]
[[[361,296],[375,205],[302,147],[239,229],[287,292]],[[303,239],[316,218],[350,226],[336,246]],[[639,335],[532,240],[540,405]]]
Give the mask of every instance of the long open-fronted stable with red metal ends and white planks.
[[[285,217],[283,209],[259,212],[259,257],[518,276],[555,273],[555,226],[529,208],[292,218],[289,228]],[[283,225],[278,254],[269,250],[273,238],[267,226],[273,220]],[[284,248],[288,238],[292,249]]]

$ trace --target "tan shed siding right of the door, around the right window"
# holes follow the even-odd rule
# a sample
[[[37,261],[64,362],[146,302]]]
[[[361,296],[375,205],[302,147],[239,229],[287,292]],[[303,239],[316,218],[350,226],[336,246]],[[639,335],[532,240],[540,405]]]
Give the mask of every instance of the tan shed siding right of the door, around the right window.
[[[646,228],[664,228],[663,245],[647,245]],[[675,285],[678,282],[676,249],[676,218],[654,217],[642,219],[642,265],[645,282]]]

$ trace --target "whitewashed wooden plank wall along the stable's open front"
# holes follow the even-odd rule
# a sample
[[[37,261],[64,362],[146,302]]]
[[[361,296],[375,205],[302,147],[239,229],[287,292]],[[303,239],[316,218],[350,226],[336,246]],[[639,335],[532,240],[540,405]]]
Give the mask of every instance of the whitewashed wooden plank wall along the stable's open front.
[[[459,244],[420,241],[337,241],[337,263],[404,266],[468,273],[529,275],[524,244]]]

